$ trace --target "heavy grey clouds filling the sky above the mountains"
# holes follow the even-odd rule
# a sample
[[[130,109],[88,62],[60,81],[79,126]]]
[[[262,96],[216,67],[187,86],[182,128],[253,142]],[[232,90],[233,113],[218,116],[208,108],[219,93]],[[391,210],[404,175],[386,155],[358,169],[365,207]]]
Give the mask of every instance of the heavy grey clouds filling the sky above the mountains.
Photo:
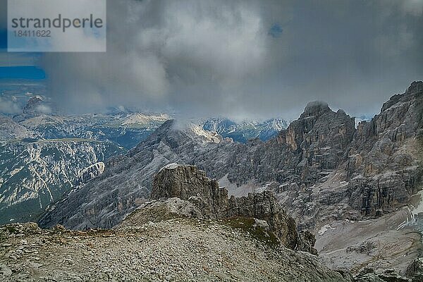
[[[107,5],[106,53],[37,56],[49,94],[73,113],[137,106],[189,117],[297,118],[307,102],[323,100],[372,115],[423,80],[423,0]],[[5,60],[22,58],[3,52]]]

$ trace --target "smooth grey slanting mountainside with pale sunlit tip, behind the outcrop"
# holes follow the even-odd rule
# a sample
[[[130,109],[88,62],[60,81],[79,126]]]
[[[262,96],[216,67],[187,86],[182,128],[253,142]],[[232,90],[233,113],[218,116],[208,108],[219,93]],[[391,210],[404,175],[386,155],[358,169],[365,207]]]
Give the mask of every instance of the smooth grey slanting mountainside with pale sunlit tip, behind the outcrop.
[[[147,140],[127,154],[106,161],[104,173],[74,190],[44,214],[42,226],[59,221],[69,228],[112,227],[123,216],[149,199],[154,173],[166,164],[203,154],[210,145],[218,145],[221,137],[202,130],[198,125],[166,121]],[[173,152],[175,150],[176,152]]]

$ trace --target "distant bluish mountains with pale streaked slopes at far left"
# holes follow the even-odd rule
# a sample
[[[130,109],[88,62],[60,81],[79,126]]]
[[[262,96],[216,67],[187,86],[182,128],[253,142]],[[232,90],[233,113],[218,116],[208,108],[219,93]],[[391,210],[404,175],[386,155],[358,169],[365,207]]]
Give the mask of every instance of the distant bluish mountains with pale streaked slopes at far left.
[[[164,114],[61,116],[40,96],[0,115],[0,223],[36,220],[66,192],[99,176],[168,119]]]

